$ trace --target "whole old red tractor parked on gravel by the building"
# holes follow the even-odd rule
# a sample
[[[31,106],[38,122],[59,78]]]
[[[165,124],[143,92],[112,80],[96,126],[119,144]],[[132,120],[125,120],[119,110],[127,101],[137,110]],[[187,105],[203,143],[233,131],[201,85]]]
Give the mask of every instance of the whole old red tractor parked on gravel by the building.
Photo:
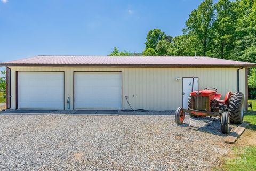
[[[221,118],[221,132],[229,133],[229,124],[239,124],[244,118],[244,94],[241,92],[227,92],[224,100],[216,88],[205,88],[193,91],[188,97],[188,109],[182,107],[175,111],[175,122],[183,124],[185,113],[191,117],[219,116]]]

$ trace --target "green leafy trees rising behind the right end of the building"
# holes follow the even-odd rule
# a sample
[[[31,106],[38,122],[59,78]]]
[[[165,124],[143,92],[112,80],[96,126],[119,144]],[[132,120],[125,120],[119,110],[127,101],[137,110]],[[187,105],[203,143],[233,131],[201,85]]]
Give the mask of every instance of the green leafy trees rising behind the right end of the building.
[[[110,56],[211,56],[256,63],[256,0],[203,1],[189,14],[183,34],[172,37],[150,30],[142,53]],[[249,92],[256,95],[256,69],[249,70]]]

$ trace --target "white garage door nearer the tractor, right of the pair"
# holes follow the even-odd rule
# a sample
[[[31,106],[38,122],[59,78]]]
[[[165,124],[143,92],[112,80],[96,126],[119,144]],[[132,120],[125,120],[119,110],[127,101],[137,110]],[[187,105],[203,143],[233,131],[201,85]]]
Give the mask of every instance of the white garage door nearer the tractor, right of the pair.
[[[76,109],[121,109],[121,72],[75,72]]]

